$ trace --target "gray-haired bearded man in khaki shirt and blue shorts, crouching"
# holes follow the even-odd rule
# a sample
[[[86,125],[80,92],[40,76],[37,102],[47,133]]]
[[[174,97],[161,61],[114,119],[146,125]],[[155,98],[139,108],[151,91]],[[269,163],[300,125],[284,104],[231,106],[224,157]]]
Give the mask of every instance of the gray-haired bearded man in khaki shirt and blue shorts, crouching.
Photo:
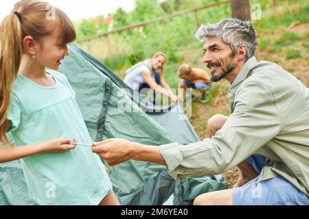
[[[231,83],[231,116],[211,139],[188,146],[146,146],[126,140],[94,143],[109,164],[127,159],[166,165],[174,179],[216,175],[249,156],[266,157],[260,175],[242,187],[198,196],[195,205],[309,205],[309,89],[283,68],[257,62],[251,23],[229,18],[203,25],[211,80]],[[216,120],[217,122],[218,120]]]

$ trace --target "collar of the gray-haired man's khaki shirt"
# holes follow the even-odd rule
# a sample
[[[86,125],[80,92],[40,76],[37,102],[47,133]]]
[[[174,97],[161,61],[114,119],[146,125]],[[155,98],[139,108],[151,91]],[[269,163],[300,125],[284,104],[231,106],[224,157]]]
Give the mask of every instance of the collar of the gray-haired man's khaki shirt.
[[[246,63],[244,63],[244,66],[240,69],[240,72],[238,73],[236,79],[231,84],[231,88],[229,88],[229,92],[232,94],[236,94],[237,88],[240,86],[242,81],[244,79],[247,79],[249,77],[249,73],[251,72],[252,68],[254,68],[258,64],[258,61],[256,60],[255,56],[249,58]]]

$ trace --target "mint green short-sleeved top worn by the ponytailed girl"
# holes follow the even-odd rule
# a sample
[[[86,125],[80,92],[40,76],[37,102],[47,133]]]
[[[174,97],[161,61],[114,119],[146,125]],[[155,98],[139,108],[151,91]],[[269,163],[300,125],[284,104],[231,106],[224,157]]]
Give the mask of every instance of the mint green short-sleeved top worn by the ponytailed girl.
[[[40,86],[21,74],[16,78],[8,115],[16,146],[62,137],[92,144],[67,77],[47,73],[55,86]],[[112,189],[104,164],[89,146],[32,155],[21,164],[30,196],[39,205],[98,205]]]

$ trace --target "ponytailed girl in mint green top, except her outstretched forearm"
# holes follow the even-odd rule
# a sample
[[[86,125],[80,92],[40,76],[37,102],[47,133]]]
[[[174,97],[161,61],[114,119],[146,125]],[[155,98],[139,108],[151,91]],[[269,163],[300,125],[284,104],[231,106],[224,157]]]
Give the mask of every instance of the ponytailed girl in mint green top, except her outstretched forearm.
[[[1,81],[9,84],[16,77],[8,131],[17,146],[60,136],[92,143],[75,92],[65,75],[55,71],[69,55],[67,43],[75,39],[67,15],[43,1],[19,1],[1,23]],[[7,101],[8,88],[1,93]],[[4,129],[1,123],[1,138]],[[104,165],[91,147],[37,153],[21,163],[30,196],[39,205],[119,205]]]

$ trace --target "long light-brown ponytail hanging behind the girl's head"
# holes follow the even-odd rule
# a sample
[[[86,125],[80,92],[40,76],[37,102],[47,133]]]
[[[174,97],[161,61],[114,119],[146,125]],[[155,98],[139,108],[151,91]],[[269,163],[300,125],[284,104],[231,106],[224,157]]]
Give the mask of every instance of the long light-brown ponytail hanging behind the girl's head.
[[[11,12],[0,25],[0,142],[9,143],[5,136],[10,90],[16,79],[23,54],[22,15]]]

